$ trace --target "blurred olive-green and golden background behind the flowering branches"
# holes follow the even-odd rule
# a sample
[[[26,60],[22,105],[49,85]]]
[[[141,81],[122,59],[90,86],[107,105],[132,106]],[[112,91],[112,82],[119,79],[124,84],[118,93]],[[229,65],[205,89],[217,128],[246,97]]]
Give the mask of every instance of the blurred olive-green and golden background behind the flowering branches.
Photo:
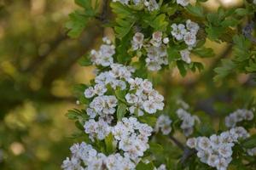
[[[241,1],[205,3],[207,10],[220,5],[236,7]],[[69,155],[75,127],[65,113],[79,107],[73,86],[93,78],[93,68],[81,67],[77,60],[98,47],[102,35],[113,36],[102,23],[91,21],[79,39],[67,37],[64,25],[75,8],[73,0],[0,0],[0,169],[60,169]],[[234,104],[242,106],[247,96],[255,94],[255,83],[247,75],[213,83],[212,68],[230,56],[231,47],[207,45],[217,56],[198,59],[206,65],[201,76],[189,73],[181,78],[177,70],[166,72],[160,91],[216,117]]]

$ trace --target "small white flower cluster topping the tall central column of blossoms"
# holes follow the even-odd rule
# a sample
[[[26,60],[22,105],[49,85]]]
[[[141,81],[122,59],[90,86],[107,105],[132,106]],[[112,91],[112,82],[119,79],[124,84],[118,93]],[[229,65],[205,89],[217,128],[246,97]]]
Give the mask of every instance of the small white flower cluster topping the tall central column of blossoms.
[[[115,54],[115,47],[112,42],[107,38],[103,37],[102,46],[98,51],[90,51],[90,60],[94,65],[109,66],[113,64],[113,54]]]

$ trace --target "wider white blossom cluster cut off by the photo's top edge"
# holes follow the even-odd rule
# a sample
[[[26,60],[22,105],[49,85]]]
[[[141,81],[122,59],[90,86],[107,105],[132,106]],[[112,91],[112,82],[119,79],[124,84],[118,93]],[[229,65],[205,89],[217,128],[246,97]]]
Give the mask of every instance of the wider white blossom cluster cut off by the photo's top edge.
[[[125,5],[144,6],[148,8],[148,11],[154,11],[160,8],[156,0],[113,0],[113,2],[119,2]]]

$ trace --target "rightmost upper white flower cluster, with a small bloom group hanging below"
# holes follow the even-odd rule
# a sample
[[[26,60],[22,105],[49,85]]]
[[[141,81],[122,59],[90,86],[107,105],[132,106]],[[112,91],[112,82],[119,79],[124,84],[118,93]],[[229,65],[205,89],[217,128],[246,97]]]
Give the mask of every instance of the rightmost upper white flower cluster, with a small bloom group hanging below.
[[[172,36],[177,39],[177,41],[184,41],[188,48],[180,51],[183,61],[186,63],[191,63],[189,57],[190,50],[196,45],[196,34],[199,31],[199,26],[191,20],[186,21],[186,26],[183,24],[172,24]]]

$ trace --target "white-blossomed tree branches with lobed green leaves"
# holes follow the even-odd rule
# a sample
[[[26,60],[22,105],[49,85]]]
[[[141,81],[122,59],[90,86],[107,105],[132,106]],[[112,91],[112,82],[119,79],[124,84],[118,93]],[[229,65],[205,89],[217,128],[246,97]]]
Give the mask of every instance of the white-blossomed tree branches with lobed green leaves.
[[[83,10],[70,14],[69,36],[78,37],[90,20],[99,20],[115,37],[103,37],[99,48],[79,60],[94,65],[96,77],[76,88],[84,109],[67,116],[79,129],[73,137],[82,141],[71,146],[62,169],[255,169],[253,100],[227,112],[219,121],[224,126],[214,129],[192,106],[168,101],[151,82],[152,75],[176,67],[182,77],[201,71],[193,56],[215,56],[207,39],[233,46],[232,57],[214,68],[215,81],[255,73],[255,1],[215,12],[203,8],[207,0],[105,0],[102,10],[98,1],[75,2]]]

